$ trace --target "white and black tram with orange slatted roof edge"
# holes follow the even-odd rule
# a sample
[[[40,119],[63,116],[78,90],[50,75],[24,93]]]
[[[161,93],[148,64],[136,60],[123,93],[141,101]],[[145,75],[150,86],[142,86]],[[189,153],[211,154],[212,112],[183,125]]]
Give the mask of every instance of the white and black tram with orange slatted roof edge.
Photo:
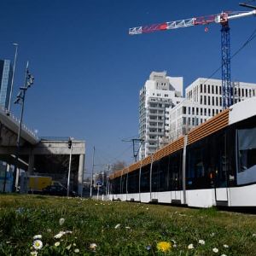
[[[114,172],[110,188],[112,200],[256,207],[256,97]]]

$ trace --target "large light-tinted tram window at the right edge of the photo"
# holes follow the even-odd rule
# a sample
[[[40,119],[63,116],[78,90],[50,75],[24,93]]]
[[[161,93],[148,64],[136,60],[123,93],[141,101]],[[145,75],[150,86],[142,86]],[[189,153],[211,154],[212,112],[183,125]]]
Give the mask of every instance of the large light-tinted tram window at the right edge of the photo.
[[[256,182],[256,127],[237,131],[237,184]]]

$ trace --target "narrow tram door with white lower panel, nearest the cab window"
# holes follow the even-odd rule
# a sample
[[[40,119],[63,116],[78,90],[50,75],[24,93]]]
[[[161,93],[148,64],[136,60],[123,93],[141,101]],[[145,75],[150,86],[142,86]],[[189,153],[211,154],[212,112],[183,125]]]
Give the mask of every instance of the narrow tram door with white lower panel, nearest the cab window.
[[[226,134],[220,134],[217,138],[218,150],[217,154],[217,165],[215,173],[215,199],[217,205],[226,205],[228,203],[228,183],[227,183],[227,173],[228,173],[228,157],[227,157],[227,138]]]

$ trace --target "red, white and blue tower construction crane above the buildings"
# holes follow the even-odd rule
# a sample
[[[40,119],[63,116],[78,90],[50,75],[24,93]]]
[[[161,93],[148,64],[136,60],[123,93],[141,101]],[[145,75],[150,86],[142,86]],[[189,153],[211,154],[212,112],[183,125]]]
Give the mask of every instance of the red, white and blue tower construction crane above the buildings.
[[[242,6],[247,6],[243,4]],[[254,8],[254,7],[253,7]],[[233,104],[233,88],[230,76],[230,26],[229,21],[238,18],[243,18],[251,15],[256,15],[256,9],[248,12],[222,12],[218,15],[207,15],[195,17],[186,20],[175,20],[154,24],[151,26],[137,26],[129,29],[130,35],[143,34],[148,32],[165,31],[187,26],[208,25],[211,23],[219,23],[221,28],[221,60],[222,60],[222,96],[223,108],[229,108]]]

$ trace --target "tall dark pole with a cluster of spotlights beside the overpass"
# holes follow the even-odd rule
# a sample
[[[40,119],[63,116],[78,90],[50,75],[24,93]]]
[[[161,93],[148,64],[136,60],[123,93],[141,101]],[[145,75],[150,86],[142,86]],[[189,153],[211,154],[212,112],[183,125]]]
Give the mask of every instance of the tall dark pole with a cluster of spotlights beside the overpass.
[[[20,153],[20,133],[22,130],[22,119],[23,119],[23,113],[24,113],[24,102],[25,102],[25,96],[26,96],[26,90],[31,87],[31,85],[34,83],[34,78],[31,73],[28,71],[28,61],[26,62],[26,75],[25,75],[25,81],[23,87],[20,87],[20,91],[18,95],[16,96],[15,104],[21,105],[21,113],[20,113],[20,125],[19,125],[19,131],[18,131],[18,137],[17,137],[17,143],[16,143],[16,154],[15,154],[15,171],[14,171],[14,180],[13,180],[13,192],[16,191],[16,177],[17,177],[17,166],[19,161],[19,153]]]

